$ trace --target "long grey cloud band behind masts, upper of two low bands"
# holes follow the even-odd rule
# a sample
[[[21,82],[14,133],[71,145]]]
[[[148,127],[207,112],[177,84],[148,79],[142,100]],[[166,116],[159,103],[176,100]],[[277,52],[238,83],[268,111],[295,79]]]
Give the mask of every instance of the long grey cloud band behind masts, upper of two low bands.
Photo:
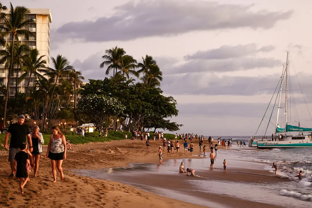
[[[166,94],[202,94],[202,95],[245,95],[258,94],[272,95],[280,79],[280,74],[269,76],[247,77],[247,76],[222,76],[213,73],[188,73],[181,76],[164,76],[161,89]],[[310,80],[312,76],[298,73],[301,89],[305,94],[306,101],[312,101]],[[301,94],[297,78],[290,76],[291,94]],[[284,82],[285,83],[285,82]],[[285,84],[284,84],[285,86]],[[291,98],[292,99],[292,98]],[[295,99],[298,103],[304,103],[302,96]]]

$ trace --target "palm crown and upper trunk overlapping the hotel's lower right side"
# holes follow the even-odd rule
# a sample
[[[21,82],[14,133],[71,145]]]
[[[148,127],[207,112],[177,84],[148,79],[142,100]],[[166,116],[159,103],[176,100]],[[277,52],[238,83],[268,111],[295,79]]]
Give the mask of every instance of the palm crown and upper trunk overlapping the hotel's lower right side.
[[[32,50],[30,50],[29,55],[26,56],[26,58],[24,59],[24,62],[23,62],[24,66],[23,66],[22,70],[25,71],[25,73],[21,75],[21,77],[19,79],[19,83],[21,83],[22,80],[24,80],[27,77],[27,74],[29,74],[28,84],[27,84],[27,88],[25,91],[25,97],[24,97],[25,100],[27,97],[27,93],[28,93],[28,89],[29,89],[30,80],[31,80],[32,75],[35,75],[37,78],[42,80],[42,79],[44,79],[44,76],[42,76],[39,72],[41,72],[41,73],[47,72],[47,70],[45,69],[46,68],[46,66],[45,66],[46,60],[42,60],[45,55],[40,56],[39,58],[38,58],[38,56],[39,56],[38,49],[37,48],[32,49]]]

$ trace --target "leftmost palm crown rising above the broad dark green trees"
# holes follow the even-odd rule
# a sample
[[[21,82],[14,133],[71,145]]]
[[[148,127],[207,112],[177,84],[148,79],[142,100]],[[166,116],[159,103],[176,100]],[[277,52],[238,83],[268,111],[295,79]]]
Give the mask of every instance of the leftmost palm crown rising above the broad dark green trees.
[[[123,48],[118,48],[117,46],[115,48],[106,49],[105,50],[106,55],[102,56],[103,59],[106,61],[103,61],[100,64],[100,68],[104,68],[104,65],[108,65],[107,70],[105,72],[106,75],[109,75],[110,70],[114,70],[113,77],[115,77],[115,69],[117,70],[119,65],[120,56],[124,56],[126,52]]]

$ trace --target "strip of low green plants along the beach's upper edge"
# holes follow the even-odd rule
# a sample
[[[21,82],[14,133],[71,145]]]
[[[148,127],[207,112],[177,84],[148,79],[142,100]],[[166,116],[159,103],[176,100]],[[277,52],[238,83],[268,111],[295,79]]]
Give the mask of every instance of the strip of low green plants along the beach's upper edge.
[[[118,131],[109,131],[107,137],[104,137],[104,133],[102,133],[102,137],[99,137],[99,132],[95,131],[92,133],[86,133],[85,137],[71,134],[71,133],[64,133],[66,140],[69,139],[70,143],[72,144],[85,144],[89,142],[109,142],[112,140],[122,140],[125,139],[125,135],[128,134],[128,139],[131,139],[132,134],[130,132],[118,132]],[[150,132],[150,139],[153,139],[154,132]],[[45,141],[45,144],[48,144],[48,141],[50,140],[51,134],[45,134],[43,133],[43,139]],[[3,148],[5,134],[0,134],[0,149]],[[168,139],[174,139],[174,134],[165,133],[164,138]],[[10,141],[8,142],[10,143]]]

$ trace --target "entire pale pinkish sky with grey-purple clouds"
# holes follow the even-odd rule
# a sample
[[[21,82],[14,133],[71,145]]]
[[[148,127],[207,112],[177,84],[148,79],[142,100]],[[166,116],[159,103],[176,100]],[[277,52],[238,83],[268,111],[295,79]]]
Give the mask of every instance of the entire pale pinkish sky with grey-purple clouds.
[[[179,133],[264,135],[276,95],[256,131],[290,51],[287,122],[312,127],[310,0],[13,3],[51,9],[50,55],[66,56],[86,79],[105,78],[99,67],[105,49],[122,47],[138,62],[153,56],[163,72],[163,94],[178,102],[179,115],[171,120],[184,125]],[[266,135],[275,122],[276,110]]]

